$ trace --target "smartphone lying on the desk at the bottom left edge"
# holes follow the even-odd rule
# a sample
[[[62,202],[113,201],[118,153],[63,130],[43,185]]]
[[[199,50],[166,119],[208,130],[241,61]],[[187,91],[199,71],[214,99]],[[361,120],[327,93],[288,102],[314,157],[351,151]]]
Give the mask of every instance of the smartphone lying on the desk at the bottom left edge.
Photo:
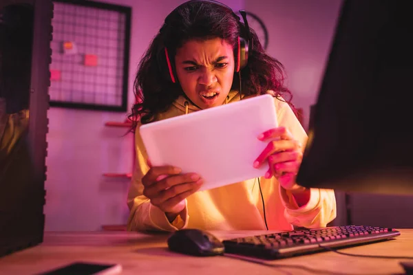
[[[74,262],[38,275],[113,275],[120,272],[122,266],[118,264]]]

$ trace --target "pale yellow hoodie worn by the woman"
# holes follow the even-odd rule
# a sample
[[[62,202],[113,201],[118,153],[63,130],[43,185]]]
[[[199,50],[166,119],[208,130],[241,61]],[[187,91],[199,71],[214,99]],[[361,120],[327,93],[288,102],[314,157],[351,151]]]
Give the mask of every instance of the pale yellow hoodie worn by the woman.
[[[271,91],[269,92],[271,93]],[[240,100],[237,91],[231,91],[227,103]],[[279,126],[285,126],[296,140],[306,143],[307,135],[295,114],[286,102],[274,98]],[[156,120],[165,120],[177,115],[198,111],[184,97]],[[231,124],[231,121],[228,122]],[[136,128],[136,167],[132,175],[127,204],[130,214],[127,230],[174,231],[182,228],[202,230],[265,230],[262,199],[257,179],[195,192],[187,197],[187,205],[182,215],[169,223],[162,212],[142,195],[141,179],[149,170],[147,153]],[[252,165],[252,164],[251,164]],[[279,186],[275,177],[260,177],[264,196],[266,221],[270,230],[292,230],[293,225],[306,228],[321,228],[336,217],[335,193],[329,189],[312,188],[310,201],[298,207],[290,192]]]

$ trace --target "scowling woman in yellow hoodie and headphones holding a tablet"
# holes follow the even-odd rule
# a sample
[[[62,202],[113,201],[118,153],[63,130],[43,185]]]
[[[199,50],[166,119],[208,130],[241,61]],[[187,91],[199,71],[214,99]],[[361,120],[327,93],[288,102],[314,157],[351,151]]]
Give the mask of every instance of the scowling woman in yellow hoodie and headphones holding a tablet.
[[[173,10],[136,75],[140,102],[131,115],[140,121],[134,125],[136,168],[127,200],[128,230],[291,230],[293,225],[320,228],[335,219],[333,190],[295,183],[307,136],[293,105],[283,99],[290,92],[282,80],[281,63],[265,54],[255,32],[230,8],[189,1]],[[202,175],[151,167],[139,135],[141,124],[266,93],[274,96],[279,128],[257,138],[279,139],[268,142],[251,164],[268,163],[265,177],[197,192]]]

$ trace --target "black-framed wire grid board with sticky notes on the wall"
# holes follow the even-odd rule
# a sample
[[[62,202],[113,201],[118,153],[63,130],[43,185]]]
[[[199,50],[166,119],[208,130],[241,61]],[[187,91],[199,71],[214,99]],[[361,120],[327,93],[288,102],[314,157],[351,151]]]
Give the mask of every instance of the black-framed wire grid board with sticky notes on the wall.
[[[53,2],[50,106],[127,111],[131,8]]]

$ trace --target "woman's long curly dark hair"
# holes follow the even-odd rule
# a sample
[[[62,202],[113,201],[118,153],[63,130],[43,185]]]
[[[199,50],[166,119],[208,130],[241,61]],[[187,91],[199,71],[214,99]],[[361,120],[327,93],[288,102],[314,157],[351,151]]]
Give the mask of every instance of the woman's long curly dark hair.
[[[244,96],[266,94],[275,91],[275,97],[287,94],[286,102],[291,104],[292,94],[283,86],[284,67],[277,59],[268,56],[257,34],[250,30],[253,40],[248,63],[241,71],[242,94]],[[172,83],[162,77],[164,72],[158,65],[158,56],[167,47],[169,56],[191,39],[224,39],[237,50],[238,36],[246,38],[246,28],[229,8],[209,1],[189,1],[171,12],[153,38],[147,52],[142,57],[134,81],[137,103],[132,107],[129,119],[133,122],[132,131],[138,119],[142,124],[153,121],[158,113],[167,111],[173,101],[184,94],[179,83]],[[174,58],[170,58],[174,68]],[[166,64],[165,64],[166,66]],[[234,72],[231,89],[239,91],[240,76]],[[281,99],[280,99],[281,100]],[[293,110],[294,107],[293,107]]]

